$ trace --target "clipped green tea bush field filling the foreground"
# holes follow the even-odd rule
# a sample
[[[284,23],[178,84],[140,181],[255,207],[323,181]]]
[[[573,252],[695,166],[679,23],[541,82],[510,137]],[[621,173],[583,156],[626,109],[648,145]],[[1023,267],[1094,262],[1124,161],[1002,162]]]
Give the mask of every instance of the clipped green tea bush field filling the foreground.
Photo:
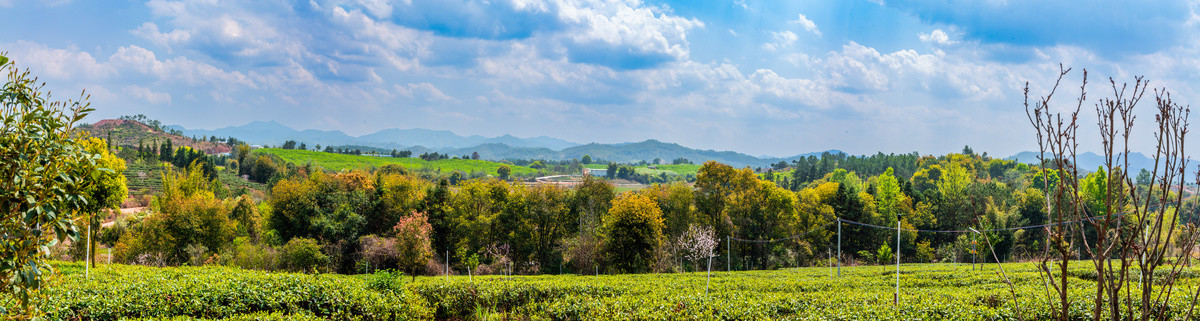
[[[1073,320],[1090,319],[1094,291],[1087,262],[1070,273]],[[242,317],[330,320],[1044,320],[1045,290],[1033,264],[1006,264],[1012,301],[996,265],[902,265],[899,307],[893,266],[704,273],[419,277],[295,274],[230,267],[157,268],[102,265],[84,280],[82,265],[46,292],[52,319],[186,320]],[[1180,289],[1200,281],[1184,273]],[[403,283],[388,283],[391,280]],[[1190,290],[1180,290],[1184,308]],[[0,307],[12,308],[0,298]],[[1186,313],[1184,309],[1178,309]],[[1178,315],[1177,315],[1178,316]]]

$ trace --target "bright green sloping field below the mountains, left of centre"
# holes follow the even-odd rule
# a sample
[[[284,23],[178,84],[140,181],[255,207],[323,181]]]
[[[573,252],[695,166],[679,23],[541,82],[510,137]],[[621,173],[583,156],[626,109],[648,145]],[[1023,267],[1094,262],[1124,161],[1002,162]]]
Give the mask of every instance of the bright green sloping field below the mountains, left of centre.
[[[326,170],[343,170],[343,169],[360,169],[368,170],[372,168],[380,168],[386,164],[397,164],[410,170],[433,170],[442,172],[452,172],[455,170],[462,171],[464,174],[470,172],[484,172],[485,175],[497,175],[496,170],[500,165],[508,165],[512,169],[515,176],[533,176],[538,174],[538,170],[517,166],[511,164],[488,162],[488,160],[475,160],[475,159],[440,159],[440,160],[424,160],[420,158],[392,158],[392,157],[376,157],[376,156],[354,156],[354,155],[341,155],[341,153],[329,153],[329,152],[314,152],[314,151],[300,151],[300,150],[281,150],[281,149],[263,149],[257,152],[265,152],[276,155],[283,160],[289,163],[302,165],[305,163],[312,162],[316,166],[322,166]]]

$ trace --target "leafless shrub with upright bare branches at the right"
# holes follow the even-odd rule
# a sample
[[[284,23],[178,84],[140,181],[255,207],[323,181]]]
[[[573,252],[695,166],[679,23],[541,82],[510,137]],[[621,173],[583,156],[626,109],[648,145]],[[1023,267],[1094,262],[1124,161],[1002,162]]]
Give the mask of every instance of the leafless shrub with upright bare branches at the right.
[[[1069,72],[1069,68],[1060,66],[1054,87],[1033,102],[1032,108],[1028,84],[1025,87],[1026,115],[1038,139],[1042,188],[1051,218],[1039,266],[1051,315],[1058,320],[1070,319],[1068,265],[1073,256],[1086,255],[1096,271],[1093,320],[1190,319],[1192,308],[1187,316],[1182,316],[1166,307],[1175,292],[1176,280],[1190,264],[1198,236],[1194,226],[1177,222],[1175,214],[1182,205],[1188,175],[1188,157],[1183,147],[1189,109],[1172,102],[1165,89],[1153,91],[1157,108],[1153,137],[1157,145],[1153,170],[1150,171],[1152,182],[1148,193],[1142,195],[1128,175],[1128,155],[1136,119],[1134,110],[1146,93],[1148,81],[1136,77],[1130,87],[1128,84],[1118,85],[1110,78],[1112,96],[1096,103],[1104,155],[1102,169],[1108,175],[1099,200],[1103,205],[1090,208],[1082,199],[1080,174],[1075,166],[1079,110],[1087,101],[1087,71],[1084,71],[1075,109],[1069,114],[1050,111],[1050,101]],[[1200,183],[1200,172],[1195,174],[1195,180]],[[1178,247],[1172,248],[1171,244]],[[1177,258],[1172,259],[1174,255]],[[1057,271],[1050,268],[1051,261]],[[1158,273],[1160,268],[1165,272]],[[1052,297],[1051,290],[1057,298]]]

